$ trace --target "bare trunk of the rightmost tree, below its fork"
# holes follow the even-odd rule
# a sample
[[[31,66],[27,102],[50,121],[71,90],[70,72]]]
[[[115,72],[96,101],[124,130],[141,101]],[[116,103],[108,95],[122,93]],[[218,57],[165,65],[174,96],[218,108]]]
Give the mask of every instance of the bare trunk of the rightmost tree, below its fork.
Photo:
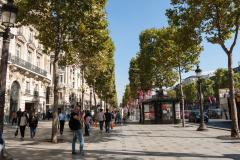
[[[233,81],[233,70],[232,70],[232,53],[228,53],[228,74],[229,74],[229,91],[230,91],[230,106],[232,114],[232,129],[231,137],[239,137],[238,129],[238,117],[237,117],[237,107],[234,95],[234,81]]]

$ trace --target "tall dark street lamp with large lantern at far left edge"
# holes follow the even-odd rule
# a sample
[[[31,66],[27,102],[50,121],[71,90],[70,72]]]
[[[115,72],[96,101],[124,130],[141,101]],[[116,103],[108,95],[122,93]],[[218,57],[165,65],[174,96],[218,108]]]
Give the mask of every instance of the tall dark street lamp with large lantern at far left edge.
[[[2,25],[5,26],[3,37],[2,56],[0,63],[0,136],[2,137],[4,125],[4,107],[7,79],[7,64],[9,57],[10,28],[14,27],[17,17],[17,7],[13,5],[13,0],[8,0],[7,4],[2,6]],[[0,138],[1,138],[0,137]]]

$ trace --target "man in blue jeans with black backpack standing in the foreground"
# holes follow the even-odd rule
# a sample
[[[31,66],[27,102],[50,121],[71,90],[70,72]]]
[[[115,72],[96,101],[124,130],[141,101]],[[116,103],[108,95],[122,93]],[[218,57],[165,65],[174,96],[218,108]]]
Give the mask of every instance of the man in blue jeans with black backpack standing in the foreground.
[[[76,106],[74,111],[71,113],[69,120],[69,127],[73,131],[73,140],[72,140],[72,154],[76,154],[75,144],[79,140],[80,143],[80,154],[84,156],[83,145],[84,138],[82,133],[82,116],[80,113],[80,107]]]

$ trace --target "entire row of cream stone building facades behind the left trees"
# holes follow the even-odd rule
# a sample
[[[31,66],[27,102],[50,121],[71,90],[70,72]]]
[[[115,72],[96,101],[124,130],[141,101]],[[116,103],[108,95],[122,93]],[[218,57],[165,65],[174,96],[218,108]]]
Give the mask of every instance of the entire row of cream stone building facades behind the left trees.
[[[4,28],[0,26],[0,30]],[[38,31],[31,26],[12,28],[6,78],[5,120],[21,109],[47,113],[53,107],[53,65],[51,56],[35,38]],[[0,58],[2,38],[0,38]],[[94,106],[93,89],[82,78],[80,67],[59,67],[59,108],[81,105],[83,110]],[[97,104],[100,104],[96,96]]]

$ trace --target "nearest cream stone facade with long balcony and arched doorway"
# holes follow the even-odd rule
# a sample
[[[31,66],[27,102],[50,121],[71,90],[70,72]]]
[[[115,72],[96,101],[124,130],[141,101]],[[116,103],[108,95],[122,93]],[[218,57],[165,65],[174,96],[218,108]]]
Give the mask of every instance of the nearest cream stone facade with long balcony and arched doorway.
[[[2,28],[3,29],[3,28]],[[5,115],[11,119],[13,112],[45,112],[46,89],[51,84],[50,57],[35,39],[33,27],[11,29],[8,71],[6,79]],[[2,40],[0,42],[2,51]],[[1,53],[0,53],[1,54]]]

